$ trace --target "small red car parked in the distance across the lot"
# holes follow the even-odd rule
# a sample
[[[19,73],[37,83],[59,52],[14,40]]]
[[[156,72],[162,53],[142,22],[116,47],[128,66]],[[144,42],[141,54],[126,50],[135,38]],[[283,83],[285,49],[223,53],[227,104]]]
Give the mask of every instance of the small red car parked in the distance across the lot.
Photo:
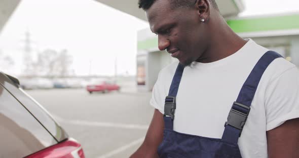
[[[93,92],[107,93],[109,91],[120,91],[120,86],[108,81],[95,81],[86,86],[86,90],[92,94]]]

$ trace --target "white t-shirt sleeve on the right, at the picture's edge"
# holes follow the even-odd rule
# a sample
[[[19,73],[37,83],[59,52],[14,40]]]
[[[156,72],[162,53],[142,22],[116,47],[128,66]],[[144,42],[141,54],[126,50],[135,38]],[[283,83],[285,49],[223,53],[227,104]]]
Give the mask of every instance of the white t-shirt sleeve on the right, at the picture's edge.
[[[299,70],[292,67],[271,79],[265,92],[267,131],[299,117]]]

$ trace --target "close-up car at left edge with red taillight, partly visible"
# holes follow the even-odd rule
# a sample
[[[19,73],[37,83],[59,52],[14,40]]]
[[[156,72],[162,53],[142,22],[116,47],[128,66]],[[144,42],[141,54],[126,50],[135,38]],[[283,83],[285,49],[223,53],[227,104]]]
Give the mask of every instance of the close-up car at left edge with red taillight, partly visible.
[[[0,72],[0,157],[80,157],[81,144],[69,137],[51,114]]]

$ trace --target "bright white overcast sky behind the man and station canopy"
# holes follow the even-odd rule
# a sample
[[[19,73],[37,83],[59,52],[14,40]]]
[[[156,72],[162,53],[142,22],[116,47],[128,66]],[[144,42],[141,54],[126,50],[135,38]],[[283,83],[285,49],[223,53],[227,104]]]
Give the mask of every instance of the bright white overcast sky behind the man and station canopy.
[[[240,16],[298,12],[297,0],[246,0]],[[67,49],[78,75],[136,73],[137,30],[147,23],[93,0],[23,0],[0,34],[0,50],[11,55],[20,74],[25,31],[31,33],[33,53]],[[34,54],[33,54],[34,55]]]

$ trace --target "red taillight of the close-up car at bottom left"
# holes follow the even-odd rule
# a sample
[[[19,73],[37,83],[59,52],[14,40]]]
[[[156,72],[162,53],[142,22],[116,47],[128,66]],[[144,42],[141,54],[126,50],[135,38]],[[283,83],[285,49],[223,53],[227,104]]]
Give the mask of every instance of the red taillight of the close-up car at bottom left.
[[[67,139],[25,158],[85,158],[81,144],[74,139]]]

